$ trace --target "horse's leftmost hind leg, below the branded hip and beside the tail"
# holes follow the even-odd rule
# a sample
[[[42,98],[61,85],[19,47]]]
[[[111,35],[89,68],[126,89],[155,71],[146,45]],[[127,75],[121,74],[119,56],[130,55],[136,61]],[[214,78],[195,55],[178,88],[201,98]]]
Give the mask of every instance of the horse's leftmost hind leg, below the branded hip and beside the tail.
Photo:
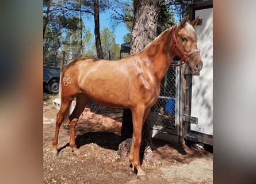
[[[67,114],[68,113],[67,109],[69,108],[71,102],[72,102],[71,99],[69,100],[62,99],[60,110],[56,118],[55,136],[54,136],[54,139],[52,140],[52,151],[51,151],[52,158],[55,158],[56,156],[58,156],[57,145],[58,145],[59,129],[60,129],[60,126],[62,125],[64,118],[67,118],[69,115]]]

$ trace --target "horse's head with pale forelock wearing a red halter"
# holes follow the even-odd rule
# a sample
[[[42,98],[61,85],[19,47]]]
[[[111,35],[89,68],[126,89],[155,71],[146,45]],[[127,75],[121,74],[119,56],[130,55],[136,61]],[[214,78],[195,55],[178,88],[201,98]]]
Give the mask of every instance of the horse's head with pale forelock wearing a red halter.
[[[182,62],[188,64],[193,74],[198,74],[202,69],[200,51],[197,48],[197,34],[194,30],[198,17],[190,24],[187,21],[188,16],[172,29],[173,52]]]

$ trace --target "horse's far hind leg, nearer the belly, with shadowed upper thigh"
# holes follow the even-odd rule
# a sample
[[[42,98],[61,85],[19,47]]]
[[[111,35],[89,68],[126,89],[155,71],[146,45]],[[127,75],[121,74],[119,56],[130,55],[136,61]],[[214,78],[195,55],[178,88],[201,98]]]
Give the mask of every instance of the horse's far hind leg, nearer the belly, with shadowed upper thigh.
[[[75,144],[75,125],[77,125],[78,118],[85,109],[85,106],[89,98],[86,95],[79,93],[77,95],[77,104],[75,105],[75,109],[70,115],[70,147],[72,148],[73,154],[78,156],[80,154],[77,145]]]

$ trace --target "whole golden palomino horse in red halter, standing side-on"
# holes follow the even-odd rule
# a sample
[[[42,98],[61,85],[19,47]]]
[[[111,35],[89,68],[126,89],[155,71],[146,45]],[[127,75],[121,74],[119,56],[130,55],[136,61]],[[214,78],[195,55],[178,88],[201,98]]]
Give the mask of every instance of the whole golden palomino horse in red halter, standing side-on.
[[[137,169],[137,178],[147,180],[139,160],[142,142],[142,127],[150,108],[160,93],[160,83],[175,55],[186,63],[192,72],[199,72],[202,60],[197,48],[194,26],[198,17],[190,24],[185,17],[178,25],[165,30],[143,51],[116,61],[93,57],[78,57],[71,60],[62,71],[62,95],[57,114],[56,132],[52,156],[58,155],[59,129],[72,100],[77,98],[70,115],[70,147],[74,155],[79,154],[75,144],[75,125],[89,99],[110,108],[131,109],[133,122],[132,145],[129,162],[132,171]]]

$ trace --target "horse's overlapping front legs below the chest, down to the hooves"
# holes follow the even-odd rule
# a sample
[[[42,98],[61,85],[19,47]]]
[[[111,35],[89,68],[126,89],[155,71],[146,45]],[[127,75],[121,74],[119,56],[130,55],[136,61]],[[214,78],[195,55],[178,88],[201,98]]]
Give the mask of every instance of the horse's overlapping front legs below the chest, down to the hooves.
[[[142,127],[145,114],[144,106],[132,108],[133,135],[132,146],[129,154],[129,161],[132,164],[132,170],[137,170],[137,178],[139,180],[147,180],[147,174],[142,170],[140,165],[140,145],[142,144]]]

